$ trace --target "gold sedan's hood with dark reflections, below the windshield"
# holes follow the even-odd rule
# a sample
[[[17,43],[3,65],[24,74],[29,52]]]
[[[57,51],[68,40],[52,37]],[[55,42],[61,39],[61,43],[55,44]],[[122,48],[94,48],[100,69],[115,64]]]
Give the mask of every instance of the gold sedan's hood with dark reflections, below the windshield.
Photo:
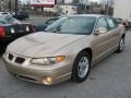
[[[85,35],[35,33],[11,42],[7,51],[32,58],[51,57],[60,49],[84,36]]]

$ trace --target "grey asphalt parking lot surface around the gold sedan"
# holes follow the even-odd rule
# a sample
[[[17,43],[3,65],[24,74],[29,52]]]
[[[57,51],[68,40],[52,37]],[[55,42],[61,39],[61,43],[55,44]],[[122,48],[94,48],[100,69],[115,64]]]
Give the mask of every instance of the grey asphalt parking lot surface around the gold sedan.
[[[82,84],[45,86],[21,81],[7,72],[0,58],[0,98],[131,98],[131,32],[124,51],[96,64]]]

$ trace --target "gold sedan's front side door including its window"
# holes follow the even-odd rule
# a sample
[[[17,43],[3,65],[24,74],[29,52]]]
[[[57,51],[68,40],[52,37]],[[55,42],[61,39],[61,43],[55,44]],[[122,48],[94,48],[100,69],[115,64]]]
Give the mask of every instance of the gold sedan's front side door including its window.
[[[108,53],[110,49],[110,34],[108,28],[108,23],[106,21],[106,17],[99,17],[96,23],[95,29],[99,28],[106,28],[107,33],[102,34],[94,34],[94,61],[97,62],[102,59],[104,59]]]

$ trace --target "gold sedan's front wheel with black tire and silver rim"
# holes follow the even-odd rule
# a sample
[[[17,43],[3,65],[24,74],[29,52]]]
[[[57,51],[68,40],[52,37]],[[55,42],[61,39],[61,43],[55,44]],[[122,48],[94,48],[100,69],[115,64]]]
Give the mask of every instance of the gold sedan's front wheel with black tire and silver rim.
[[[74,60],[71,79],[76,83],[82,83],[87,78],[90,71],[91,57],[87,52],[82,51],[78,54],[78,57]]]

